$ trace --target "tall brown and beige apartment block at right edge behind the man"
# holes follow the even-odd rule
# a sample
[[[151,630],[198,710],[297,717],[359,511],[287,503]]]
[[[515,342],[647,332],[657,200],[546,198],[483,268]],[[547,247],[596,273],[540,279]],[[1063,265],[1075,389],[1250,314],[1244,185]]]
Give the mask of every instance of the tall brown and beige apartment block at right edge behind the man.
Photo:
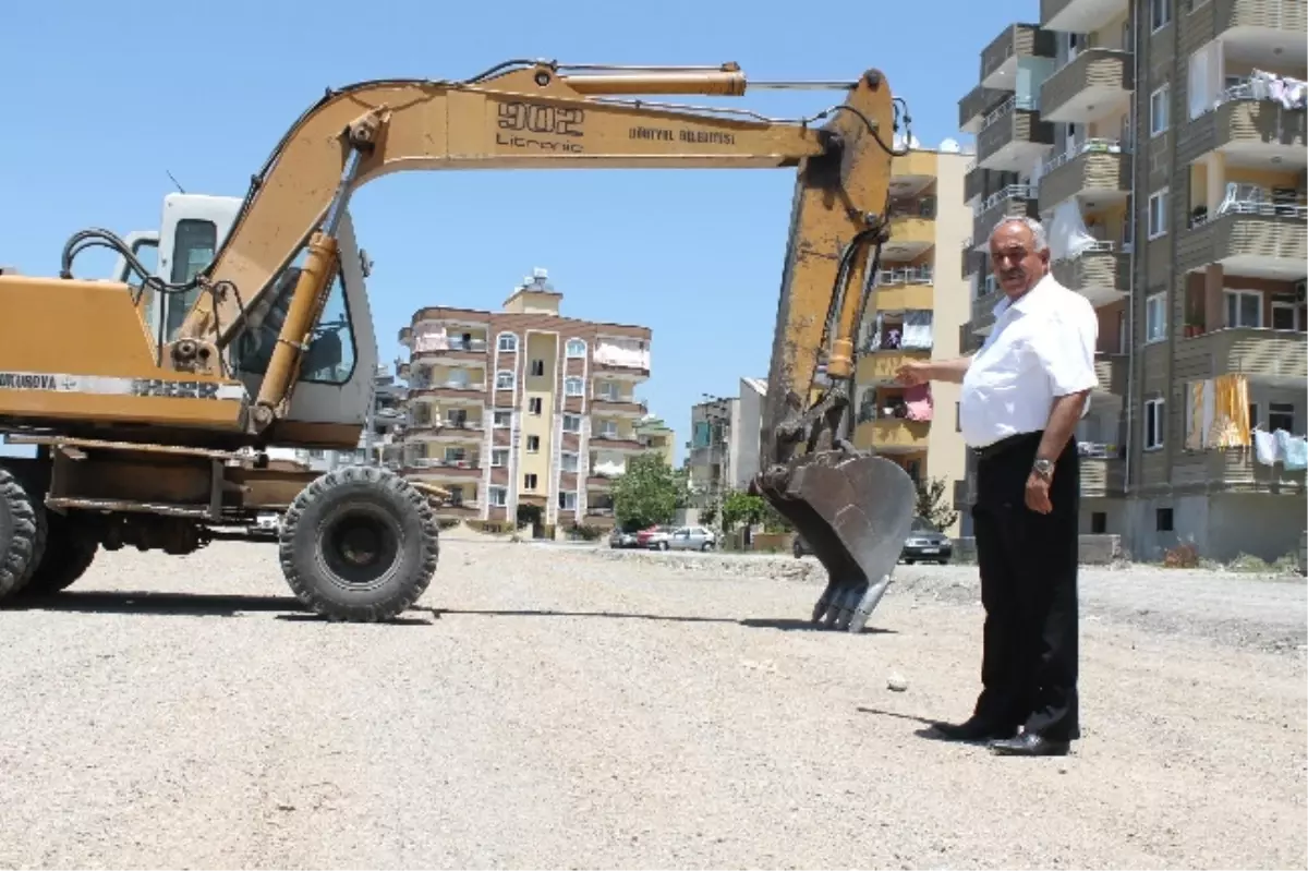
[[[973,347],[998,301],[985,233],[1039,214],[1100,313],[1078,430],[1083,532],[1137,558],[1275,558],[1308,527],[1308,4],[1040,0],[981,52]],[[1275,435],[1273,435],[1275,433]],[[1260,450],[1261,446],[1261,450]],[[972,481],[957,489],[960,504]]]

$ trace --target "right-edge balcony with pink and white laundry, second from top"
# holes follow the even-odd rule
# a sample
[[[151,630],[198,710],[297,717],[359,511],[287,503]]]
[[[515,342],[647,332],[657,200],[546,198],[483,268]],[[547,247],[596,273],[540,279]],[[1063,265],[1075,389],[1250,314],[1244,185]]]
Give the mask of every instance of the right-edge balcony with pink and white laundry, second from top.
[[[1286,109],[1261,85],[1244,82],[1223,92],[1216,109],[1185,124],[1177,160],[1192,163],[1209,152],[1223,152],[1241,165],[1284,162],[1296,166],[1308,145],[1308,111]]]

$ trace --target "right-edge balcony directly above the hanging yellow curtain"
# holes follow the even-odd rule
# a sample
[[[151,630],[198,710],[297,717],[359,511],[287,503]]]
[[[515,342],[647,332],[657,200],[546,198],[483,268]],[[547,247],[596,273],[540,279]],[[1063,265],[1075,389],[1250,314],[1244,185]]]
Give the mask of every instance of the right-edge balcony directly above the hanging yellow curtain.
[[[1194,378],[1241,373],[1252,381],[1308,384],[1308,333],[1257,327],[1214,330],[1177,340],[1176,369],[1194,373]]]

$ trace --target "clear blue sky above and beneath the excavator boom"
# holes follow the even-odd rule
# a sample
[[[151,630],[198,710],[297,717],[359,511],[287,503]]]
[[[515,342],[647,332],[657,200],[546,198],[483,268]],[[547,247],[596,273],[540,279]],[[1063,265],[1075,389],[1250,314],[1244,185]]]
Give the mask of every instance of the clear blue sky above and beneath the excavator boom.
[[[854,78],[876,67],[923,146],[957,132],[957,101],[999,29],[1035,1],[314,4],[133,0],[5,4],[0,30],[0,263],[55,275],[69,234],[158,225],[171,173],[196,194],[250,175],[327,86],[455,78],[501,60],[740,63],[747,77]],[[1027,7],[1031,7],[1029,9]],[[695,102],[696,98],[684,98]],[[756,92],[730,105],[811,114],[832,92]],[[702,101],[698,101],[702,102]],[[402,174],[352,203],[385,361],[425,305],[497,307],[534,267],[570,315],[654,332],[651,411],[688,438],[702,394],[766,377],[785,251],[789,170]],[[78,273],[109,256],[78,258]],[[679,447],[679,459],[684,450]]]

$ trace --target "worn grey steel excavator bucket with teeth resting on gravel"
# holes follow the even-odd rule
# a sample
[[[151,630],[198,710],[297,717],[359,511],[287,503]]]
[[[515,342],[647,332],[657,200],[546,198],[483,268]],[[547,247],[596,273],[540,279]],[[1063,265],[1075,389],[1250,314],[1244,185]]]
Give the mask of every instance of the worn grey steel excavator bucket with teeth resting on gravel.
[[[757,489],[790,521],[829,578],[812,621],[862,632],[913,526],[913,479],[886,458],[844,450],[806,454],[777,471],[765,473]]]

